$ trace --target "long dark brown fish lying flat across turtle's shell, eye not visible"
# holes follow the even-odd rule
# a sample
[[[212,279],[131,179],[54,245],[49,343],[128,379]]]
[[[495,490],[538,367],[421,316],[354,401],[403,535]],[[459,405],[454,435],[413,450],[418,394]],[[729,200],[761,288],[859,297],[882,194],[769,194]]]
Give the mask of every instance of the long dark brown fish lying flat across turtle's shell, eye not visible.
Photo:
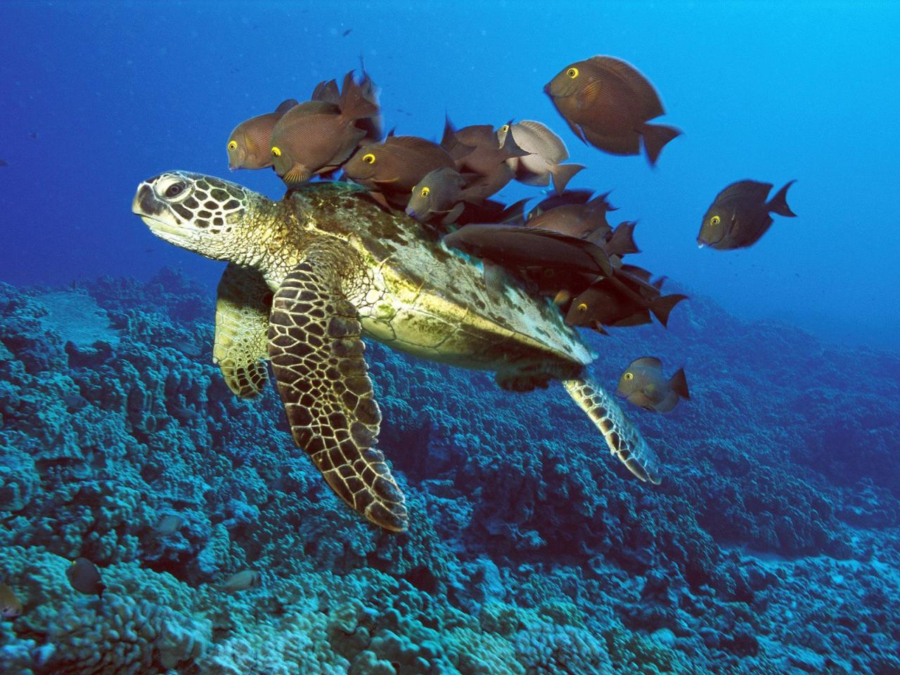
[[[444,243],[513,273],[527,267],[554,267],[594,276],[612,274],[601,247],[550,229],[473,223],[448,234]]]

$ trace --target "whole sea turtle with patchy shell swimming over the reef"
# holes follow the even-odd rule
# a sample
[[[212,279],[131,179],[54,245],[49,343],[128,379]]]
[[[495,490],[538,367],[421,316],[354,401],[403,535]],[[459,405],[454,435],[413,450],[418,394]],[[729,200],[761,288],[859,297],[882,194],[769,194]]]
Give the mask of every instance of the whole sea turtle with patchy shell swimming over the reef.
[[[374,445],[381,412],[362,338],[442,363],[489,370],[501,387],[562,381],[642,481],[656,456],[616,401],[584,378],[594,355],[560,311],[518,284],[484,283],[451,251],[362,188],[317,183],[279,202],[209,175],[169,171],[132,202],[159,238],[228,261],[213,361],[232,392],[256,396],[272,363],[294,441],[331,488],[378,526],[408,525],[403,495]]]

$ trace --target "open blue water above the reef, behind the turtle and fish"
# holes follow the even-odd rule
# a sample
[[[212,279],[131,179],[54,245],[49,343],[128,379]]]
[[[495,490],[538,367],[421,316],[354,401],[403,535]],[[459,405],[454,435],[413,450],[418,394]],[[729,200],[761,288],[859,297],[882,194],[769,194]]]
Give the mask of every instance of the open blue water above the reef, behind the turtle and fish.
[[[239,121],[356,67],[388,127],[545,121],[640,219],[636,262],[744,318],[896,349],[900,94],[892,3],[0,3],[0,280],[146,279],[165,264],[212,287],[221,264],[130,214],[162,170],[228,175]],[[347,37],[342,33],[352,29]],[[626,58],[685,131],[611,157],[575,139],[542,93],[573,60]],[[230,177],[272,197],[268,171]],[[791,178],[797,219],[745,251],[698,250],[699,219],[742,178]],[[504,196],[518,198],[518,187]]]

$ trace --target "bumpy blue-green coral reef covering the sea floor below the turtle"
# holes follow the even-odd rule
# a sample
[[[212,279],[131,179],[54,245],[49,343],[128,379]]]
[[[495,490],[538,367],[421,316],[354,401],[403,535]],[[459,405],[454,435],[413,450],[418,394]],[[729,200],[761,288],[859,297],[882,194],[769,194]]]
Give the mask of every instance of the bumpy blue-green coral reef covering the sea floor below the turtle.
[[[559,386],[369,344],[397,536],[329,491],[274,388],[229,393],[213,303],[169,269],[0,284],[0,581],[23,604],[0,671],[900,673],[897,356],[698,298],[590,337],[609,387],[637,356],[686,365],[691,401],[628,410],[665,468],[648,487]],[[102,598],[69,585],[78,556]],[[229,589],[241,570],[261,582]]]

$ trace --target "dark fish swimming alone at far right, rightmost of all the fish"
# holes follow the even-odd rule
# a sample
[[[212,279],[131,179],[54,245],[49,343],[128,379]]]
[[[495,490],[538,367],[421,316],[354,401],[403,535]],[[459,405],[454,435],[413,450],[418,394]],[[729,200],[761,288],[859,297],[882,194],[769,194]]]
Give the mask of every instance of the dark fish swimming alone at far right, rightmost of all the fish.
[[[769,199],[771,183],[738,181],[716,195],[716,200],[703,216],[697,243],[719,250],[746,248],[760,240],[772,224],[771,213],[793,218],[788,206],[789,181]]]

